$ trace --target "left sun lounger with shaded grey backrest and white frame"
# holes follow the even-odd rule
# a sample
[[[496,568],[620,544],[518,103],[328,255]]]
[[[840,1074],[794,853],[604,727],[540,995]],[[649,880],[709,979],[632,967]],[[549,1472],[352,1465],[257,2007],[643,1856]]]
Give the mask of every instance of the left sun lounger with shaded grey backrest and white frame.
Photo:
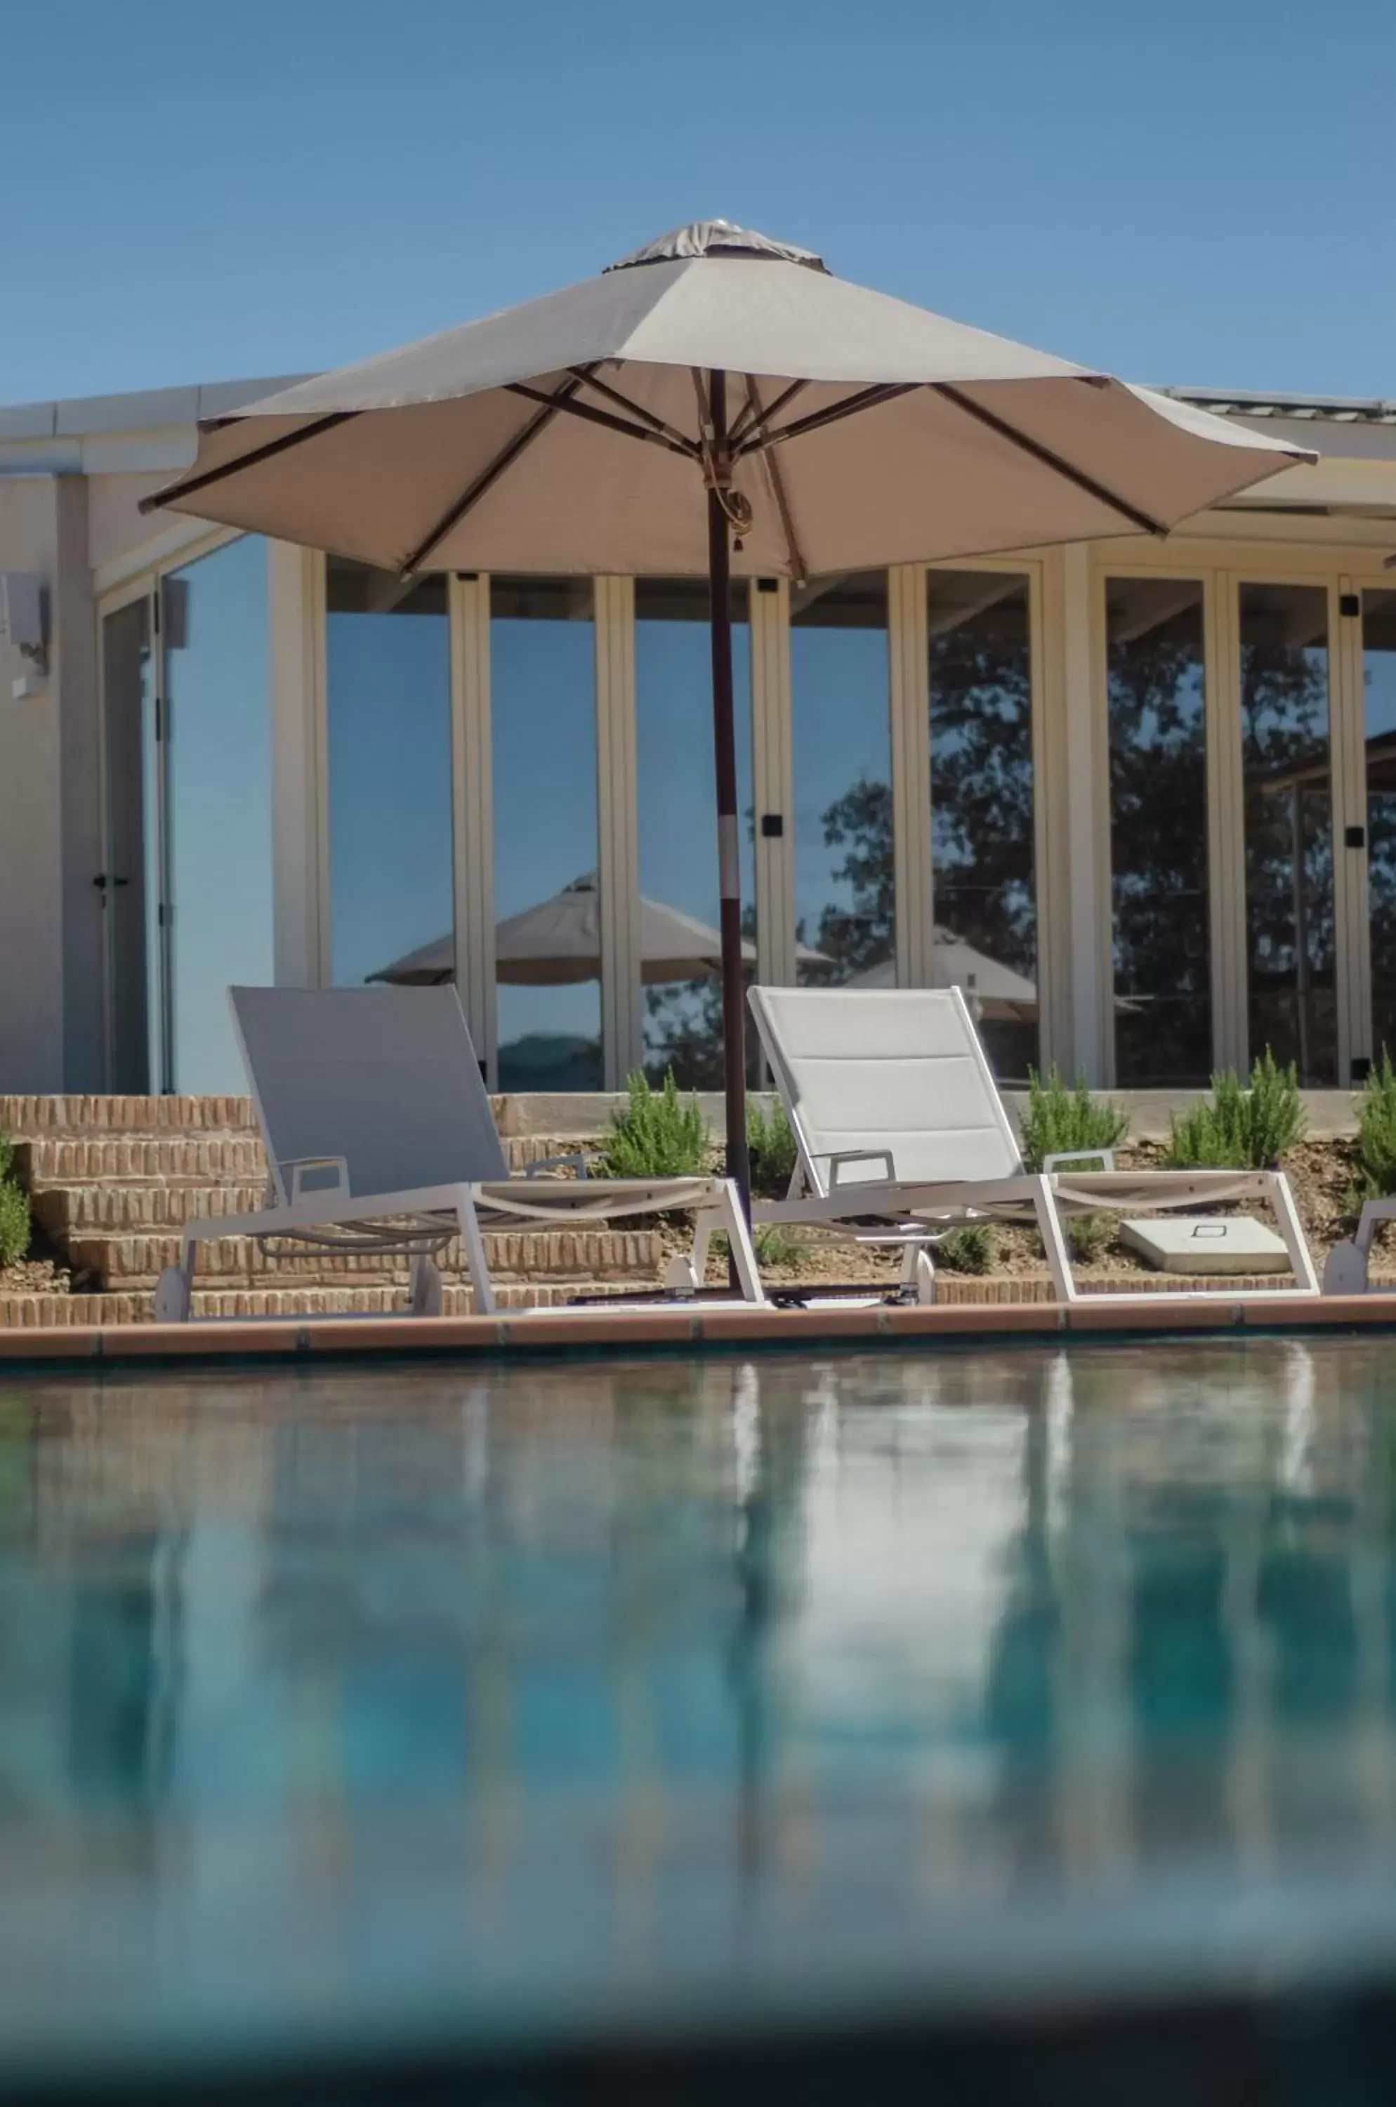
[[[291,1249],[413,1260],[411,1308],[440,1311],[434,1260],[459,1235],[476,1311],[495,1308],[482,1230],[592,1228],[617,1216],[695,1216],[726,1230],[743,1298],[762,1302],[752,1239],[726,1178],[587,1178],[581,1157],[512,1178],[461,1003],[444,988],[230,988],[267,1150],[267,1205],[183,1230],[156,1317],[190,1315],[198,1245],[257,1237]],[[537,1171],[569,1163],[579,1176]]]

